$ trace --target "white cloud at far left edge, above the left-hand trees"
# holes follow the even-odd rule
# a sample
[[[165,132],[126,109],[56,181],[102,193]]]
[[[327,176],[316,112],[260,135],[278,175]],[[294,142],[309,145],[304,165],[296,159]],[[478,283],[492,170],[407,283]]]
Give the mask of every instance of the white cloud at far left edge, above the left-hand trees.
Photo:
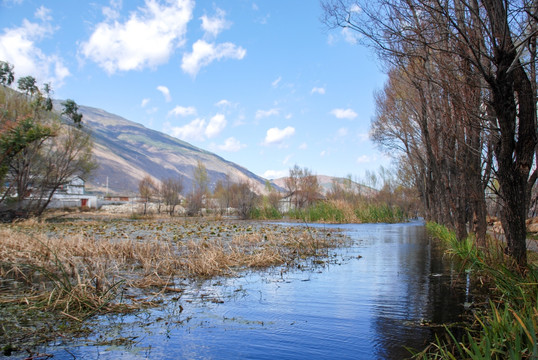
[[[19,76],[34,76],[39,82],[60,87],[70,74],[63,60],[56,54],[45,54],[38,43],[56,31],[50,23],[49,9],[41,6],[34,14],[40,23],[24,19],[20,27],[5,28],[0,34],[0,59],[15,66]]]

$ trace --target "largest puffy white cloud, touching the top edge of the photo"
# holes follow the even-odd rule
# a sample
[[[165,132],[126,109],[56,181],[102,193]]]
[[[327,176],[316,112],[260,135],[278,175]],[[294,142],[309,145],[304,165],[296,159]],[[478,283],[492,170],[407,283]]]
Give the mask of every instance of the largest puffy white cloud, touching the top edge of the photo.
[[[145,0],[145,6],[132,12],[125,22],[115,19],[118,14],[107,8],[103,10],[106,20],[97,24],[80,51],[109,74],[155,68],[166,63],[173,51],[184,45],[193,8],[192,0],[165,4]]]

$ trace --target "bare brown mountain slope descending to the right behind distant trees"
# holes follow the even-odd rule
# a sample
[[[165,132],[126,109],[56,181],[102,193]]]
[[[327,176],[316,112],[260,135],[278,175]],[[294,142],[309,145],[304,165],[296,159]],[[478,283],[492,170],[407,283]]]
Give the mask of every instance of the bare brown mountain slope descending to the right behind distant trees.
[[[231,182],[249,181],[257,193],[265,191],[265,179],[209,151],[101,109],[79,105],[79,112],[83,128],[93,135],[98,164],[86,179],[89,191],[137,194],[140,180],[150,175],[156,182],[181,176],[187,192],[198,161],[207,169],[210,189],[229,177]]]

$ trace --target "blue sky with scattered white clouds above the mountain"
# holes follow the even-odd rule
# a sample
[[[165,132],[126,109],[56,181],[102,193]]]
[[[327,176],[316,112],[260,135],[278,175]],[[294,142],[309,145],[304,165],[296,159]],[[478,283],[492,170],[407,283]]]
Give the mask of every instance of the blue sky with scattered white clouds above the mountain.
[[[274,179],[360,179],[386,76],[317,0],[0,0],[0,60],[54,98],[104,109]]]

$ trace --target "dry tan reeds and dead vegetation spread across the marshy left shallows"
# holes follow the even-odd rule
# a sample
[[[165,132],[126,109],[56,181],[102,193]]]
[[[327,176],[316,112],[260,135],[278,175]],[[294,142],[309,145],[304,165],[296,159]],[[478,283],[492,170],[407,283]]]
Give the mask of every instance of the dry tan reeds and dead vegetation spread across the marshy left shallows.
[[[166,292],[177,279],[292,266],[345,242],[336,232],[303,227],[117,219],[25,221],[0,227],[0,239],[0,305],[75,322],[151,303],[118,295],[132,289]]]

